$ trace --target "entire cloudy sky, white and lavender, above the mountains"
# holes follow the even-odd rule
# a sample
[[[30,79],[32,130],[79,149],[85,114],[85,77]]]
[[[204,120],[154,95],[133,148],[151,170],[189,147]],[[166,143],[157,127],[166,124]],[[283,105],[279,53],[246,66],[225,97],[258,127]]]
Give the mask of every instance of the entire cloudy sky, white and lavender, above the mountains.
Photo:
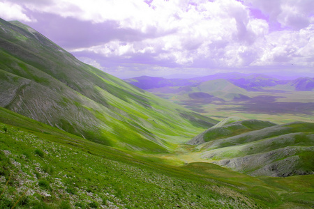
[[[314,76],[313,0],[0,0],[0,17],[121,78]]]

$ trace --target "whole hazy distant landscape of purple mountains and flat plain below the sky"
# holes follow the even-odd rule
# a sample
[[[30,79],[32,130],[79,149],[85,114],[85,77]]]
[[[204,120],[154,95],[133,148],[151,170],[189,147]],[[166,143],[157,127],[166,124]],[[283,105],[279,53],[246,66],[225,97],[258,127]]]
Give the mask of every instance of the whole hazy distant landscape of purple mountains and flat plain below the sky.
[[[147,89],[188,109],[221,120],[229,116],[289,123],[314,121],[313,78],[279,80],[265,75],[226,73],[193,79],[138,77],[135,86],[149,80]]]

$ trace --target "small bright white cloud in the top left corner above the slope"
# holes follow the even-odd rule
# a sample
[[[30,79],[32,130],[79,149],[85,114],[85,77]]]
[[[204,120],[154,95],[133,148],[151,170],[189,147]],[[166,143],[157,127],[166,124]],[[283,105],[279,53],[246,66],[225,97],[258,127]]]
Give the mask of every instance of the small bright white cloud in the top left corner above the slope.
[[[8,1],[0,1],[0,17],[5,20],[21,20],[25,22],[36,21],[28,17],[24,13],[24,8],[16,3],[10,3]]]

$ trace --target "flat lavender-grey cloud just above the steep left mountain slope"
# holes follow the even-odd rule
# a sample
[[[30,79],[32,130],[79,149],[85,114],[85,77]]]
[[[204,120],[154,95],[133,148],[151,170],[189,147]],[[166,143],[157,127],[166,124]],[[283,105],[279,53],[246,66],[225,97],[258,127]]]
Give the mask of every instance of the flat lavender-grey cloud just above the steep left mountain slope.
[[[119,22],[114,20],[93,24],[73,17],[64,18],[49,13],[31,13],[31,15],[36,16],[40,21],[30,22],[29,26],[38,29],[41,33],[49,34],[51,40],[67,49],[102,45],[110,40],[133,42],[154,37],[154,31],[142,33],[135,29],[119,28]],[[45,26],[43,22],[46,23]]]

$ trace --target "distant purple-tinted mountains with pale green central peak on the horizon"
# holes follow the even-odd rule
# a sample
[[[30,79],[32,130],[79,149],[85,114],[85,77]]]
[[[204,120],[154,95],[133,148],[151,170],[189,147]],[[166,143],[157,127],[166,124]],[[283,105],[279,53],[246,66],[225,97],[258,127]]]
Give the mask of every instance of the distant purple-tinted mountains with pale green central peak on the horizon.
[[[260,74],[243,74],[239,72],[218,73],[192,79],[164,79],[162,77],[135,77],[126,82],[155,93],[163,98],[165,94],[189,94],[190,99],[213,97],[222,100],[248,100],[247,91],[260,91],[264,87],[283,84],[273,77]],[[205,94],[204,94],[205,93]]]

